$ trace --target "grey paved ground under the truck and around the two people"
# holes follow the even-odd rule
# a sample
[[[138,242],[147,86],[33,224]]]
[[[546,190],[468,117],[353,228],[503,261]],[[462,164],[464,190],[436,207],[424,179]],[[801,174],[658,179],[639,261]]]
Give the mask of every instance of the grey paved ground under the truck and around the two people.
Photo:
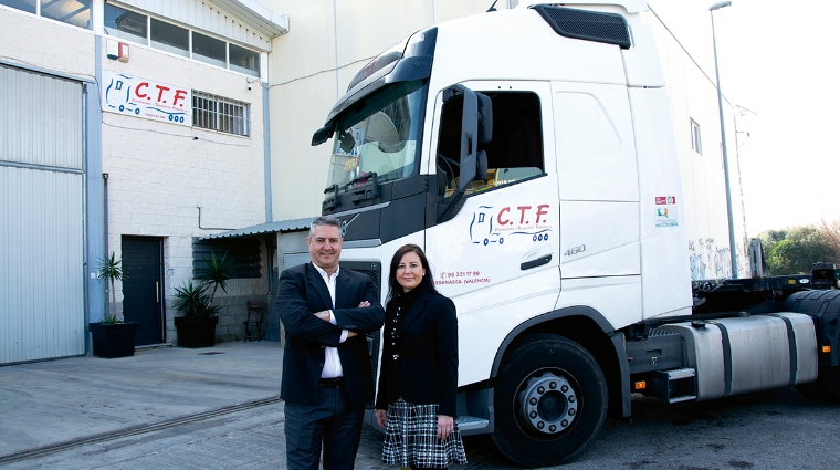
[[[279,343],[140,349],[0,367],[0,468],[284,469]],[[792,387],[666,405],[634,396],[633,420],[608,419],[564,470],[837,469],[840,406]],[[469,463],[512,468],[487,436]],[[363,430],[357,469],[384,468]]]

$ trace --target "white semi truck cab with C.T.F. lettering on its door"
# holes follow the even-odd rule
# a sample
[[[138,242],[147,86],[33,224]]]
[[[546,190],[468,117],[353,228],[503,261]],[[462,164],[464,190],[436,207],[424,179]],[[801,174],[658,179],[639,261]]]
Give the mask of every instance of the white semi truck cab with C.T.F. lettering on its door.
[[[313,136],[334,140],[323,213],[342,220],[342,265],[384,295],[397,248],[424,248],[458,306],[461,430],[492,434],[519,466],[576,459],[608,415],[631,416],[633,393],[796,385],[840,400],[840,291],[692,281],[645,10],[534,4],[419,31],[366,65]]]

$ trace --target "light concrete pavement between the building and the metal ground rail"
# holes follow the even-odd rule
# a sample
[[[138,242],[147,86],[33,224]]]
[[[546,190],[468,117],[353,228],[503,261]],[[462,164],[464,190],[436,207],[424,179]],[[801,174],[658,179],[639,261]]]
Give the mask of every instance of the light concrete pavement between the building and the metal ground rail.
[[[279,401],[275,342],[0,367],[0,464]]]

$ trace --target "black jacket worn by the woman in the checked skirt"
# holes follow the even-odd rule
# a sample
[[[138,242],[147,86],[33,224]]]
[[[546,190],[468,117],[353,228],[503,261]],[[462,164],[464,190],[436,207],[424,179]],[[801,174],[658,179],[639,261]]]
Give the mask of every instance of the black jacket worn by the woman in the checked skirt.
[[[439,293],[420,292],[399,323],[399,341],[392,345],[390,325],[396,310],[389,305],[385,314],[376,408],[387,410],[388,404],[401,396],[414,405],[438,404],[440,415],[454,418],[458,395],[455,304]],[[393,355],[398,358],[393,359]]]

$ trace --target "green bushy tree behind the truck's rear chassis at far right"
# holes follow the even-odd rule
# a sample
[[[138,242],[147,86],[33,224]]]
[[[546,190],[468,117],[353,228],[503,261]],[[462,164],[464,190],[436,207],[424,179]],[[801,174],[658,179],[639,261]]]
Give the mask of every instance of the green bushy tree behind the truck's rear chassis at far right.
[[[840,260],[830,238],[816,226],[768,230],[759,234],[759,238],[762,244],[767,243],[767,268],[774,275],[807,274],[816,262],[836,263]]]

